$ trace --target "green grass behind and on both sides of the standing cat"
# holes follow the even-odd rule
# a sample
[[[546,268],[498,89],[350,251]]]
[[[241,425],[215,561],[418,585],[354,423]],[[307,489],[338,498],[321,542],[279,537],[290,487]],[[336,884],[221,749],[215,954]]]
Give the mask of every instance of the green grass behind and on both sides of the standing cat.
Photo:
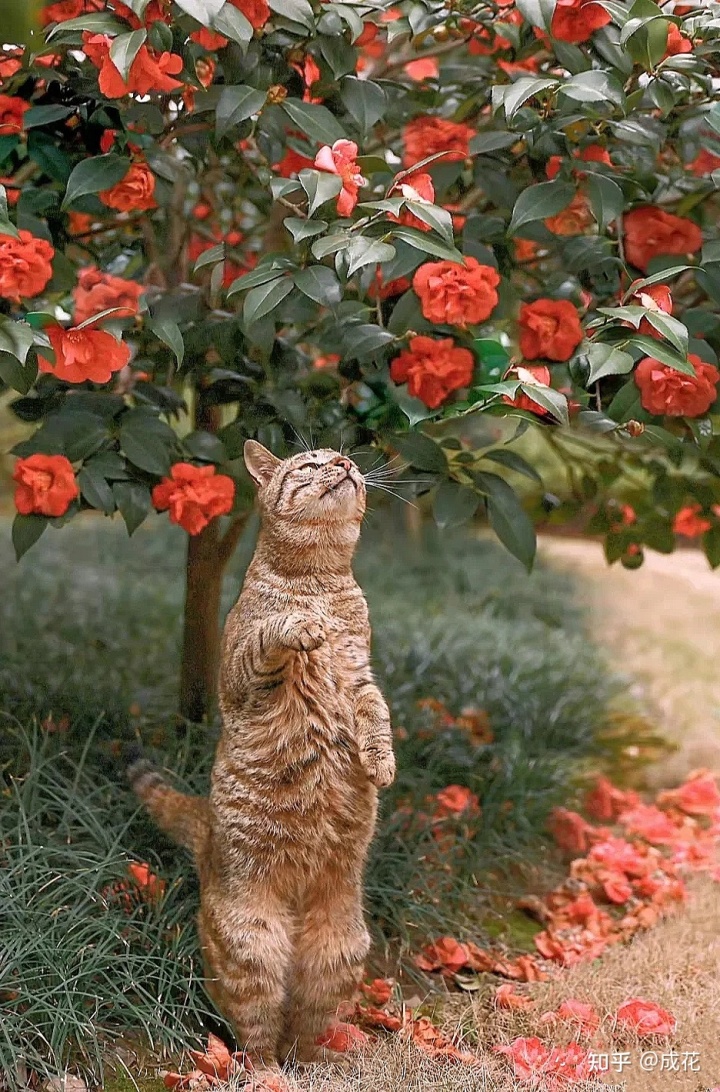
[[[114,756],[139,737],[180,783],[205,792],[216,726],[178,736],[173,712],[179,532],[155,526],[128,543],[117,525],[78,520],[48,532],[17,567],[8,538],[0,950],[12,957],[0,964],[0,1072],[12,1087],[21,1055],[45,1075],[70,1059],[97,1075],[118,1036],[144,1031],[173,1048],[211,1019],[191,868],[137,812]],[[228,573],[226,606],[251,546],[241,544]],[[401,729],[400,774],[367,876],[376,965],[394,968],[447,933],[527,943],[505,900],[547,859],[539,832],[567,802],[617,684],[566,578],[542,569],[528,578],[494,544],[433,532],[413,544],[389,517],[368,526],[357,572]],[[455,715],[485,711],[492,741],[439,726],[417,705],[427,697]],[[449,820],[455,836],[440,850],[418,815],[448,784],[477,793],[482,815]],[[114,890],[131,858],[166,880],[158,903]]]

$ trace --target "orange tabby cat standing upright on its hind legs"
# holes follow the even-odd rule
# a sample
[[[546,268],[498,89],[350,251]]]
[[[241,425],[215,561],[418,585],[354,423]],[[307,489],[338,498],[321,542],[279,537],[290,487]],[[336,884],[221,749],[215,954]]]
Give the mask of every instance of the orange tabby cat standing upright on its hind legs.
[[[210,798],[175,792],[145,762],[131,780],[194,853],[208,987],[272,1068],[318,1056],[362,976],[363,867],[394,758],[351,570],[363,475],[335,451],[281,461],[255,440],[245,463],[262,523],[225,626]]]

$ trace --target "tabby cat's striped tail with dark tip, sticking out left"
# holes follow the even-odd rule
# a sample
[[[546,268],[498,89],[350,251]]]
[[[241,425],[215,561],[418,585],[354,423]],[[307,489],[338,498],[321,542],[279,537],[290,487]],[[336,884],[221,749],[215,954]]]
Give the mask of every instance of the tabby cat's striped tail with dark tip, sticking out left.
[[[135,752],[137,756],[137,752]],[[131,758],[127,776],[161,830],[179,842],[199,860],[210,838],[210,802],[204,796],[178,793],[152,762]]]

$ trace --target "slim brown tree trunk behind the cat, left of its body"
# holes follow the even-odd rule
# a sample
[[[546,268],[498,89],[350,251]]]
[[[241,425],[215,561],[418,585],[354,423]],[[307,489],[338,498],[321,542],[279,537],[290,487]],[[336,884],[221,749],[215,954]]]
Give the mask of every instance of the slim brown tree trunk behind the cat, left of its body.
[[[188,536],[180,667],[180,714],[188,721],[202,721],[217,693],[224,569],[220,525],[213,520],[199,535]]]

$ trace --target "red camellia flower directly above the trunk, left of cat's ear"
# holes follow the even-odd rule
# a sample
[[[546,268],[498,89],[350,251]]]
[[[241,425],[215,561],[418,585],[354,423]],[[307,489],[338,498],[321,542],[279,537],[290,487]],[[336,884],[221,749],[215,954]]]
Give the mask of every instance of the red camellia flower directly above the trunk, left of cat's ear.
[[[169,509],[170,523],[179,524],[189,535],[198,535],[216,515],[233,507],[235,483],[214,466],[175,463],[170,476],[153,489],[153,505],[158,512]]]

